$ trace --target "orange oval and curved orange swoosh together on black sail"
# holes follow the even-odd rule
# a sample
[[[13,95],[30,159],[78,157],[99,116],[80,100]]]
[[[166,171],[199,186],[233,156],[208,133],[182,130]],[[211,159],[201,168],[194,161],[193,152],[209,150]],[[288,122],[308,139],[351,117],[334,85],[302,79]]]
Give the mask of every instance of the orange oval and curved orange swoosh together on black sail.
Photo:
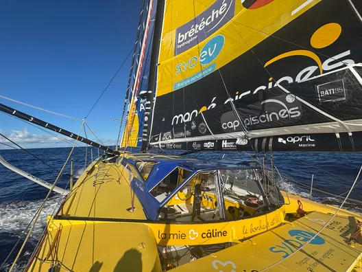
[[[339,38],[341,32],[342,27],[338,23],[327,23],[326,25],[322,25],[322,27],[319,27],[311,36],[311,46],[315,49],[322,49],[327,47],[337,41],[337,38]],[[277,60],[281,60],[282,58],[287,58],[290,56],[306,56],[312,58],[315,60],[315,63],[317,63],[319,73],[322,75],[322,61],[320,60],[319,56],[317,56],[317,54],[314,52],[305,49],[293,50],[280,54],[279,56],[276,56],[275,58],[272,58],[267,63],[265,63],[264,68],[268,65],[271,65],[272,63],[275,63]]]

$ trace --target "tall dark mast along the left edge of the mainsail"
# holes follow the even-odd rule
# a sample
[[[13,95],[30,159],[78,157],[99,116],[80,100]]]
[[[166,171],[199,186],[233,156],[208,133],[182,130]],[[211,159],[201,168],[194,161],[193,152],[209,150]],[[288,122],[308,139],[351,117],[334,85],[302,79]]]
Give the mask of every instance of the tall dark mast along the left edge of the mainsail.
[[[164,10],[165,10],[165,0],[158,0],[156,7],[156,18],[154,26],[155,28],[154,28],[154,37],[153,37],[152,52],[151,52],[151,67],[149,69],[149,81],[147,87],[148,91],[145,103],[145,123],[143,125],[141,152],[147,150],[149,133],[150,133],[149,127],[152,122],[150,116],[151,116],[152,106],[154,104],[154,94],[156,92],[158,55],[160,52],[162,19],[163,19]]]

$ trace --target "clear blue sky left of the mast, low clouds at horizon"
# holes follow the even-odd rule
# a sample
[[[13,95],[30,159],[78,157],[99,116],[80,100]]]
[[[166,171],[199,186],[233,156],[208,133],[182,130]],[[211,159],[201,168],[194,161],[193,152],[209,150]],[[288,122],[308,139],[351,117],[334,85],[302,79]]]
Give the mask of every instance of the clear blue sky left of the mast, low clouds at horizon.
[[[83,119],[132,50],[140,11],[141,0],[3,1],[0,95]],[[104,144],[117,141],[113,120],[121,117],[130,65],[128,58],[86,120]],[[72,133],[82,126],[3,98],[0,103]],[[69,146],[2,112],[0,133],[24,148]],[[8,143],[1,136],[0,142]]]

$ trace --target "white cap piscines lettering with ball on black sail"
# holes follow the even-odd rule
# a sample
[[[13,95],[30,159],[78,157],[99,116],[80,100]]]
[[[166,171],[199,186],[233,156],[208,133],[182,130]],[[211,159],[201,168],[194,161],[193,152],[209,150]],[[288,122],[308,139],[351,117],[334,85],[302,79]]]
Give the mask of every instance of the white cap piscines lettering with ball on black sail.
[[[263,100],[261,102],[261,106],[262,105],[265,105],[263,106],[263,114],[242,116],[246,127],[256,126],[258,124],[267,127],[268,123],[274,122],[280,124],[286,122],[285,120],[298,120],[298,117],[302,116],[302,111],[300,111],[302,104],[291,94],[279,95],[276,98]],[[239,112],[241,111],[242,110],[239,109]],[[221,115],[221,127],[226,132],[241,130],[239,120],[235,120],[233,111]]]

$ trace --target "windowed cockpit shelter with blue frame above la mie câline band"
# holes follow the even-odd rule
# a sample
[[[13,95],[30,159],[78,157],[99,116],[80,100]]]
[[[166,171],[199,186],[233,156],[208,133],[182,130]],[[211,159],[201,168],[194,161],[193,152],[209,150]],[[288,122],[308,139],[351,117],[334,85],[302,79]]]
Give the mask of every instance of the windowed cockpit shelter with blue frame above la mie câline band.
[[[202,164],[157,160],[130,163],[130,170],[137,174],[132,181],[134,192],[150,220],[239,220],[272,212],[284,204],[277,186],[254,162],[233,167]]]

